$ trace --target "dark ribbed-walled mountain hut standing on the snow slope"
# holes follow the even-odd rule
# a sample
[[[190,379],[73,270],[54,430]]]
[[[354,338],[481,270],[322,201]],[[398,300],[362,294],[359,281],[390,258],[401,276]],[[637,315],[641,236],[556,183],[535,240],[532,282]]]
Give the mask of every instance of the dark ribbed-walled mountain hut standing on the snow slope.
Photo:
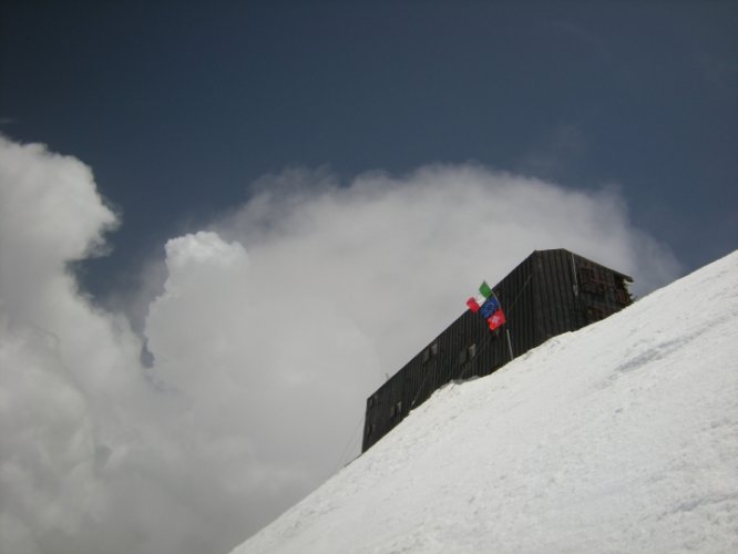
[[[565,249],[535,250],[493,287],[508,319],[490,332],[467,310],[367,399],[365,452],[454,379],[486,376],[551,337],[631,304],[633,279]],[[510,341],[508,340],[510,337]]]

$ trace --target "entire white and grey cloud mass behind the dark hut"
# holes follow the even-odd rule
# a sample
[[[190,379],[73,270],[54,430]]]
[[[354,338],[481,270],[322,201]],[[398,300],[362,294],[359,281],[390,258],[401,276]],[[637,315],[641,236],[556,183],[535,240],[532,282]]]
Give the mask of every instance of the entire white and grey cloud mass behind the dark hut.
[[[116,224],[84,164],[0,137],[2,552],[227,552],[358,453],[366,397],[481,279],[562,246],[642,293],[678,273],[616,189],[286,171],[166,244],[136,334],[68,270]]]

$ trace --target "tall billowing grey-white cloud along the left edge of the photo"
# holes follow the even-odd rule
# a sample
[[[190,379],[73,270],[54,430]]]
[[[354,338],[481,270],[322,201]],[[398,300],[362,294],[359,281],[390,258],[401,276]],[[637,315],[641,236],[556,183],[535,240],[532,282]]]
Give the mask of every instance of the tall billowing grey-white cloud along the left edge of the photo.
[[[127,320],[66,269],[115,223],[82,163],[0,138],[2,552],[205,552],[237,536],[211,529],[247,500],[208,483],[222,468],[192,452],[186,400],[155,386]]]

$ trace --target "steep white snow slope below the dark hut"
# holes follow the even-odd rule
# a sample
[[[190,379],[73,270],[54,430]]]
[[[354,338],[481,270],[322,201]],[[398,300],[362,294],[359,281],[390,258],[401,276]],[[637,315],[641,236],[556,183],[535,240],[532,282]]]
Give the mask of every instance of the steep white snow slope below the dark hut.
[[[738,250],[449,384],[235,548],[738,552]]]

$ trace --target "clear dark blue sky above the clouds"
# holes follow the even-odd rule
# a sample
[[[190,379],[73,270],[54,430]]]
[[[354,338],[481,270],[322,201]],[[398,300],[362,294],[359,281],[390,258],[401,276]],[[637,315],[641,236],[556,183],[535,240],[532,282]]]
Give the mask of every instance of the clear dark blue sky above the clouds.
[[[123,215],[96,293],[285,167],[622,187],[686,268],[738,236],[734,2],[6,2],[0,121]]]

